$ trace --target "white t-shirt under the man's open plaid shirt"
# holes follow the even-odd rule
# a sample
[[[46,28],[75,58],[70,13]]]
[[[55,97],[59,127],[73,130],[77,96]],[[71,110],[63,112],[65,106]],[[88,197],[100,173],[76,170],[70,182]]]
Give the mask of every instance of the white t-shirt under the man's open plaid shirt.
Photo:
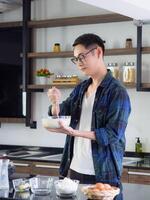
[[[94,99],[95,92],[89,97],[86,97],[86,95],[83,97],[79,122],[79,130],[81,131],[91,131]],[[95,175],[90,139],[75,137],[73,159],[70,168],[81,174]]]

